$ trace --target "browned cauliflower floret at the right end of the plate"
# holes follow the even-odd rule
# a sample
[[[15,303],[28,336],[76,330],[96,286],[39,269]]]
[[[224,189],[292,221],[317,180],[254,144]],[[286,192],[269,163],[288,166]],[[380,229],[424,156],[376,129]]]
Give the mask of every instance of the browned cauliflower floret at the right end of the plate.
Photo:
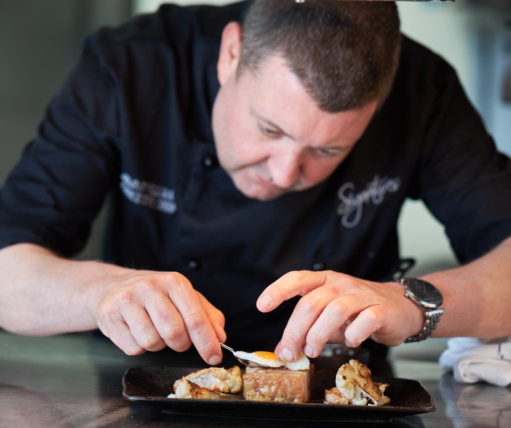
[[[357,360],[350,360],[339,368],[335,376],[335,385],[353,405],[365,406],[369,403],[382,406],[390,402],[390,399],[383,395],[388,385],[375,384],[371,378],[371,371]]]

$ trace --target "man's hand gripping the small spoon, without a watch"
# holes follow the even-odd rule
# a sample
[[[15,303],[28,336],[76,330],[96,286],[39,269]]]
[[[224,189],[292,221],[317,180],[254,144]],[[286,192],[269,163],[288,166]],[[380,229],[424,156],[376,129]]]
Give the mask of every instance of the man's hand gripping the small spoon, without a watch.
[[[130,271],[104,290],[98,326],[124,352],[135,355],[192,343],[210,365],[222,361],[224,316],[177,272]]]

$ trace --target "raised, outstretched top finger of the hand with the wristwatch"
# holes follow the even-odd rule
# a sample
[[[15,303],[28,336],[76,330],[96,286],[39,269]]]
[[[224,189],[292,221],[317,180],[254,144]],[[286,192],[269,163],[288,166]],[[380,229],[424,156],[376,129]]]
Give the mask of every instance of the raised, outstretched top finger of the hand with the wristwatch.
[[[305,296],[321,287],[327,280],[327,272],[292,271],[271,283],[259,296],[257,308],[261,312],[270,312],[283,301],[295,296]]]

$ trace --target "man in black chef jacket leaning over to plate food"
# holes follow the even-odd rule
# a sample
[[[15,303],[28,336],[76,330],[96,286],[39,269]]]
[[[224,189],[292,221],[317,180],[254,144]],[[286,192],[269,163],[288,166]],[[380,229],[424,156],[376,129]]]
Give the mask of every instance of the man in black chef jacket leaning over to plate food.
[[[506,336],[510,189],[511,161],[393,2],[165,5],[86,40],[2,188],[0,327],[99,328],[128,354],[193,344],[211,365],[224,341],[294,361]],[[401,277],[406,198],[460,267]],[[102,260],[74,259],[106,201]]]

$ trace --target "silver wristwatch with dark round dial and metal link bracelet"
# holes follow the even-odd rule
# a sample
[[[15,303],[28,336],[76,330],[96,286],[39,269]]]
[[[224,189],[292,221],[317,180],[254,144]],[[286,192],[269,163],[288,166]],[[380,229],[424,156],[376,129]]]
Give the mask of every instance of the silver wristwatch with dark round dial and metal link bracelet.
[[[424,326],[419,334],[409,337],[405,340],[405,343],[419,342],[427,339],[431,336],[440,321],[440,317],[445,312],[445,309],[440,307],[444,301],[442,293],[433,284],[423,279],[400,278],[398,282],[405,286],[405,297],[421,306],[426,317]]]

